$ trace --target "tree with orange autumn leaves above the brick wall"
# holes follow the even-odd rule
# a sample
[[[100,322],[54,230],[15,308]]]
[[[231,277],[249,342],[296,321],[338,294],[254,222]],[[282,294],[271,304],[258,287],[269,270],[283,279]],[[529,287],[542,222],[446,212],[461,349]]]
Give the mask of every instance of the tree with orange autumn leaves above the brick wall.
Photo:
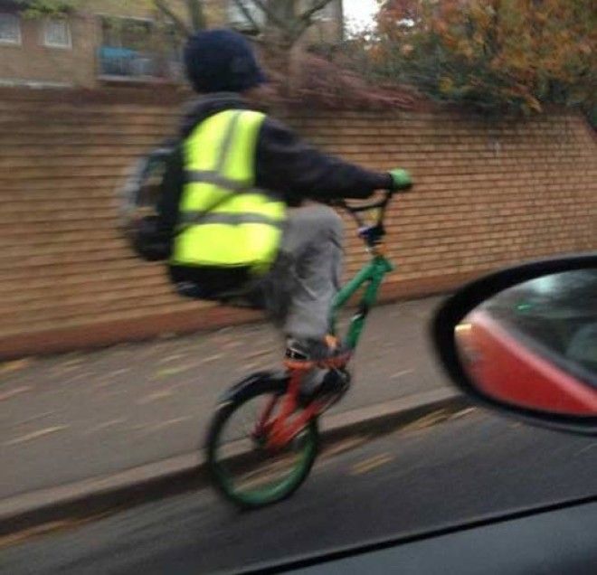
[[[485,110],[594,109],[593,0],[389,0],[374,41],[380,78]]]

